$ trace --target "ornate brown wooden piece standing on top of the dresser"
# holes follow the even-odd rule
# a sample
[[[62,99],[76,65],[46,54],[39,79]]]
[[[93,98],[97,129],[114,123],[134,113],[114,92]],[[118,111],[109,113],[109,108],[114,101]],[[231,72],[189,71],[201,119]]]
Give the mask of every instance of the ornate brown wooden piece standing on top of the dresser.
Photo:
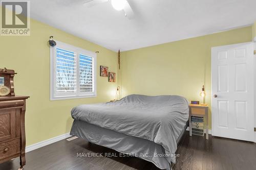
[[[12,69],[0,68],[0,96],[15,96]]]

